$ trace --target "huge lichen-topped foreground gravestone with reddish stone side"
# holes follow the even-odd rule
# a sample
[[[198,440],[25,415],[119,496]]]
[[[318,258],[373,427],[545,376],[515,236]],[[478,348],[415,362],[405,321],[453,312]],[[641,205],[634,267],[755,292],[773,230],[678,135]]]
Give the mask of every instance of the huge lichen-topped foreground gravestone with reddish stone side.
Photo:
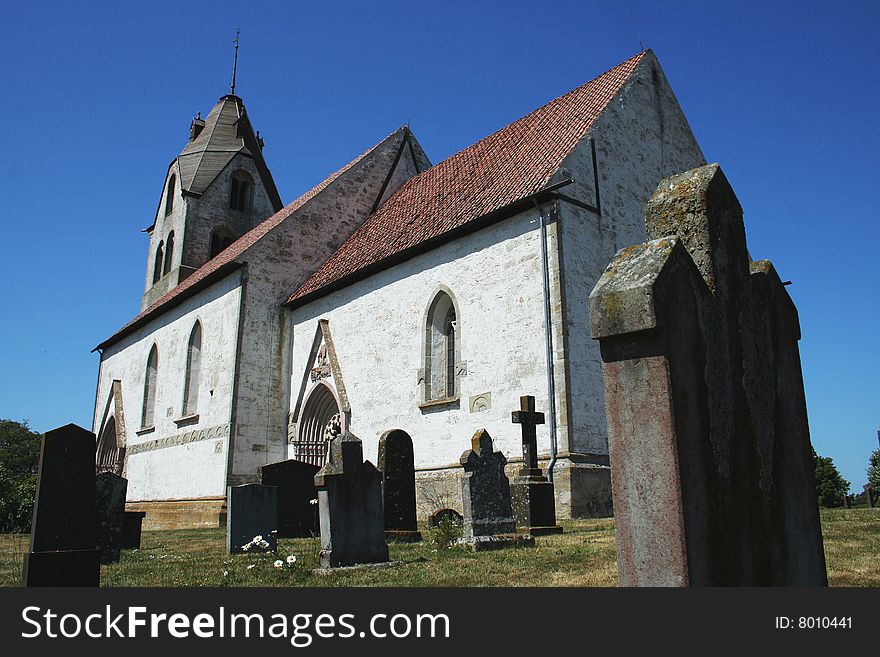
[[[717,164],[645,221],[590,295],[620,583],[824,586],[797,310]]]

